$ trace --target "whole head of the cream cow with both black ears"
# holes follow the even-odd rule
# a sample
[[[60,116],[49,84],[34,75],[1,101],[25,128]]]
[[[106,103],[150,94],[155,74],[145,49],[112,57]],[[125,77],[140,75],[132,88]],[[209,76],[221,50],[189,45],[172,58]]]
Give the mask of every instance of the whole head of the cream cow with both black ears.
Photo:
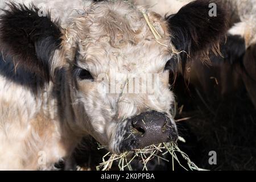
[[[178,61],[205,55],[225,32],[225,14],[195,1],[162,17],[123,1],[94,4],[67,29],[35,7],[10,5],[1,17],[2,51],[55,80],[64,68],[75,121],[115,153],[177,140],[168,82]],[[67,89],[68,88],[68,89]]]

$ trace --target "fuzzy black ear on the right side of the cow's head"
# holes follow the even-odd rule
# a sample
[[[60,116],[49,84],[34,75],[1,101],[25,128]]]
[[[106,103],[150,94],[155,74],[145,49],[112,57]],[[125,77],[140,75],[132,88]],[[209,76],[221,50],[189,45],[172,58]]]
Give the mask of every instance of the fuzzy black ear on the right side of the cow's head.
[[[216,10],[214,8],[216,7]],[[177,14],[166,17],[171,42],[180,52],[183,63],[190,58],[205,58],[227,31],[224,5],[214,0],[197,0],[183,6]]]

